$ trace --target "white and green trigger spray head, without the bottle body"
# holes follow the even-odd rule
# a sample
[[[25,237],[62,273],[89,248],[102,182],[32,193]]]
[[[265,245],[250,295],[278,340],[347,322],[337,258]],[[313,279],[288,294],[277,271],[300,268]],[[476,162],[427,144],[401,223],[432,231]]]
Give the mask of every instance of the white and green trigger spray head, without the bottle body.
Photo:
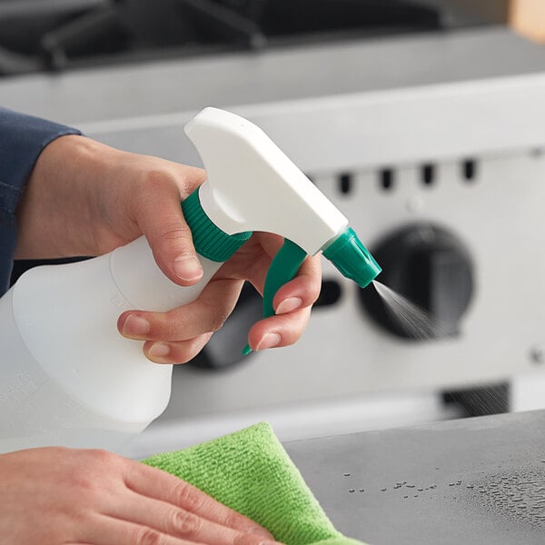
[[[284,238],[265,279],[263,316],[274,313],[274,295],[307,255],[325,250],[342,274],[362,287],[381,272],[348,219],[259,127],[238,115],[204,108],[185,125],[185,133],[206,170],[198,197],[183,204],[197,252],[219,262],[253,232]]]

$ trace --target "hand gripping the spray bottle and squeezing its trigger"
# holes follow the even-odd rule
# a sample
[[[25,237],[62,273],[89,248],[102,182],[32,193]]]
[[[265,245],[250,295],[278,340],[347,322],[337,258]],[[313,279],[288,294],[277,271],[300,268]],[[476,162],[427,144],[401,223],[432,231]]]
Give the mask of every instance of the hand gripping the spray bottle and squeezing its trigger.
[[[17,213],[18,258],[99,255],[144,233],[161,270],[180,285],[202,276],[180,202],[203,183],[202,169],[122,152],[83,136],[45,147]],[[263,292],[280,237],[256,233],[195,301],[171,312],[124,312],[119,331],[144,341],[154,362],[188,362],[233,311],[244,280]],[[274,297],[277,314],[253,325],[253,350],[296,342],[320,292],[320,257],[308,258]]]

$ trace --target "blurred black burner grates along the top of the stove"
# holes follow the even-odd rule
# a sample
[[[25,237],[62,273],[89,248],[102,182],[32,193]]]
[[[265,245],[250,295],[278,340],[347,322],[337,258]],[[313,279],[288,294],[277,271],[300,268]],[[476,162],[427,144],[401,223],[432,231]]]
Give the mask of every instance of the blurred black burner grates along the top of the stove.
[[[0,0],[0,76],[508,21],[509,0]]]

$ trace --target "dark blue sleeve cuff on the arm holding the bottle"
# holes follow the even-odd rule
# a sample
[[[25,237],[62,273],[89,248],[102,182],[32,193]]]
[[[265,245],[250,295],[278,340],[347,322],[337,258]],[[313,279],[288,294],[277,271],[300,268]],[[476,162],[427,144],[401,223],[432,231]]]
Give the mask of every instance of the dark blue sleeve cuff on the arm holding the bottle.
[[[13,267],[17,222],[15,211],[38,155],[64,134],[78,130],[31,115],[0,108],[0,295]]]

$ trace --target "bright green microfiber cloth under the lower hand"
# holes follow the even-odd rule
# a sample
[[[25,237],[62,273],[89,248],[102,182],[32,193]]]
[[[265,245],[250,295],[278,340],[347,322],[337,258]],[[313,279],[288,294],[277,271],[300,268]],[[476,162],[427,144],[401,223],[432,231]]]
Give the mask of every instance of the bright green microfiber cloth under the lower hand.
[[[286,545],[362,543],[335,530],[265,422],[144,463],[190,482]]]

